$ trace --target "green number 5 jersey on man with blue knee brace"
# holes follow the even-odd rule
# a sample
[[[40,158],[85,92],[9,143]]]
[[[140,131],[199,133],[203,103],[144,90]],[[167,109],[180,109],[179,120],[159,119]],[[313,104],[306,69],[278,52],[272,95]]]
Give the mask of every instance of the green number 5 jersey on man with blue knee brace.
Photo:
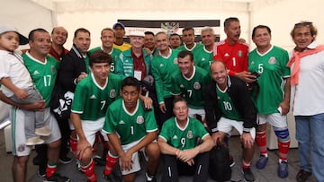
[[[284,78],[290,77],[287,51],[272,47],[265,54],[257,52],[257,48],[248,54],[248,71],[257,71],[259,85],[258,94],[252,94],[260,114],[278,113],[277,108],[284,100]]]

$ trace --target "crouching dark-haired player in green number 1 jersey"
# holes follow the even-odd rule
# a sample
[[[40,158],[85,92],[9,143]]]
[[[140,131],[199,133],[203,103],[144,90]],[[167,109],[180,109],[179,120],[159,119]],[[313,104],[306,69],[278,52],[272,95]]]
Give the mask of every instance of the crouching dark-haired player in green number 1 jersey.
[[[108,156],[120,158],[121,174],[125,182],[133,182],[140,170],[139,151],[148,159],[146,179],[156,181],[159,160],[157,122],[153,109],[146,110],[139,100],[140,83],[134,77],[121,82],[121,98],[108,108],[103,132],[108,134],[112,150]],[[108,161],[108,160],[107,160]]]

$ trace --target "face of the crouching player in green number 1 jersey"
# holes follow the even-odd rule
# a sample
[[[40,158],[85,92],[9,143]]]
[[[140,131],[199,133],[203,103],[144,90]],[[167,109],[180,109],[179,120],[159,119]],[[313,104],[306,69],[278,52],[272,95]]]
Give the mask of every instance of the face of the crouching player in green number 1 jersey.
[[[137,106],[139,91],[135,86],[124,86],[121,89],[121,98],[124,101],[125,108],[133,111]]]

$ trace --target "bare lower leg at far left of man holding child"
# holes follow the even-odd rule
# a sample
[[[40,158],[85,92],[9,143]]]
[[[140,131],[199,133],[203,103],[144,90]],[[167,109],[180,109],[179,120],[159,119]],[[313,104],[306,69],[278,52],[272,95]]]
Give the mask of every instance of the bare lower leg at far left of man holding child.
[[[14,182],[25,182],[27,174],[27,162],[29,155],[27,156],[14,156],[14,162],[12,167]]]

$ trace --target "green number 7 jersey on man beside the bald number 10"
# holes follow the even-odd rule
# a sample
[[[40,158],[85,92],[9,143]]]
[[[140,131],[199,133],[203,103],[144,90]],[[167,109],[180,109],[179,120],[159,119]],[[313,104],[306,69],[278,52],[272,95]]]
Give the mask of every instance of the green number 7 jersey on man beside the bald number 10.
[[[174,95],[181,95],[187,102],[189,108],[201,109],[204,106],[203,92],[210,76],[202,68],[193,66],[191,78],[184,77],[177,70],[171,77],[171,91]]]

